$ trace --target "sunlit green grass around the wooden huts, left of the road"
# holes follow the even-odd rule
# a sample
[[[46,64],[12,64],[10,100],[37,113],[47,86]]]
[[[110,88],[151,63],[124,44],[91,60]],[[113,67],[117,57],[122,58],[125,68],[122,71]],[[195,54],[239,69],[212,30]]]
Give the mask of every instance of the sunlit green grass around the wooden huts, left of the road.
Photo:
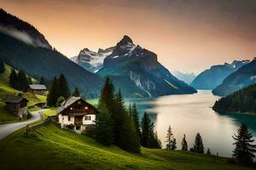
[[[9,87],[9,75],[11,72],[11,67],[5,65],[5,71],[0,74],[0,99],[4,99],[8,94],[18,95],[21,93],[23,97],[29,100],[28,105],[35,105],[38,102],[45,102],[46,97],[42,95],[26,94],[22,93],[14,88]],[[35,81],[35,80],[33,80]],[[2,122],[17,122],[19,121],[17,116],[9,113],[4,109],[3,101],[0,101],[0,123]]]

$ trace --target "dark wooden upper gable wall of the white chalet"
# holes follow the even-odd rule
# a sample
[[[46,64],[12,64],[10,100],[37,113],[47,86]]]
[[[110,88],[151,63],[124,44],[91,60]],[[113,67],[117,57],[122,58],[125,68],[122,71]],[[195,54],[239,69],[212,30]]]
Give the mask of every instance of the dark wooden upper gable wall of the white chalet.
[[[77,113],[79,113],[79,115],[96,115],[96,109],[93,106],[88,105],[86,102],[84,102],[83,99],[79,99],[78,101],[73,103],[73,105],[69,105],[65,109],[65,111],[62,111],[61,114],[72,115]]]

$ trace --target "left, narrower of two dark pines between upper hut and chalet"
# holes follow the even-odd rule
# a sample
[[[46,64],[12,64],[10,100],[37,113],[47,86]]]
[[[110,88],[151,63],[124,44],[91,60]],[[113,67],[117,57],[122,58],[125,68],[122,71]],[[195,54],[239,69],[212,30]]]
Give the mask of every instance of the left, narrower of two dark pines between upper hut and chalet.
[[[49,88],[49,93],[47,95],[47,105],[55,106],[57,99],[59,98],[58,88],[57,78],[54,77]]]

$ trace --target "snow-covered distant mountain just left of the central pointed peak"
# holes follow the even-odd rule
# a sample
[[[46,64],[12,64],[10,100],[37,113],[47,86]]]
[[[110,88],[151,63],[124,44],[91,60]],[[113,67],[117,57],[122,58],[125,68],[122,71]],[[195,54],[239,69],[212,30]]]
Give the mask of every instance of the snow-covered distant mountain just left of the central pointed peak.
[[[103,60],[111,54],[113,51],[112,48],[102,49],[99,48],[97,52],[90,51],[88,48],[84,48],[80,51],[78,57],[72,58],[75,59],[75,62],[78,65],[81,65],[85,70],[90,72],[96,72],[102,69]]]

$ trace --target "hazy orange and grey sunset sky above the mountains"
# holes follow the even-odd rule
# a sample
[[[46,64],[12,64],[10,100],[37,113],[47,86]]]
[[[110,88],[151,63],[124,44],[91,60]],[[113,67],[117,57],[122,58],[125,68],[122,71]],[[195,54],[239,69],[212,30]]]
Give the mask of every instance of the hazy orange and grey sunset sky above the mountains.
[[[256,57],[254,0],[0,0],[67,57],[114,46],[124,36],[170,71]]]

